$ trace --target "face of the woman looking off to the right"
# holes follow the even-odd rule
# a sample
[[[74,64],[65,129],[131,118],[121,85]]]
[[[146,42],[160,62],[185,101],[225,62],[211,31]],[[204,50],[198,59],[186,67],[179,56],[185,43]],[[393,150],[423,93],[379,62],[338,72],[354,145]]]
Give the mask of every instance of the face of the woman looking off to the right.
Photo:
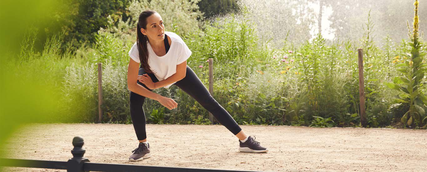
[[[147,35],[149,40],[164,40],[164,25],[158,13],[147,17],[147,29],[141,28],[141,32]]]

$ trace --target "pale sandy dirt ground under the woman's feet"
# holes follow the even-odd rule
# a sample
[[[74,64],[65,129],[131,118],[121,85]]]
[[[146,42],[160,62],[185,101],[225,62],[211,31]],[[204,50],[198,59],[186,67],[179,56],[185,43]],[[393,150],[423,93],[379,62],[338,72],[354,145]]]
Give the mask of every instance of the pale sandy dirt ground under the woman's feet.
[[[238,152],[222,125],[147,125],[152,157],[128,161],[138,142],[133,125],[40,124],[20,128],[1,157],[67,161],[74,136],[91,162],[259,171],[427,171],[427,130],[241,125],[269,152]],[[1,171],[65,172],[1,167]]]

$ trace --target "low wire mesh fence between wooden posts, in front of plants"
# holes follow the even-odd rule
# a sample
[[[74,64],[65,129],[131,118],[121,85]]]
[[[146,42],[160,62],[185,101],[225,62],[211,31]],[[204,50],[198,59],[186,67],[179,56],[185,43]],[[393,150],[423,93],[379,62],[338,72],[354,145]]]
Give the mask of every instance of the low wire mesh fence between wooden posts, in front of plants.
[[[326,66],[327,69],[319,70],[307,67],[315,64],[304,64],[304,61],[298,60],[298,55],[287,59],[292,63],[214,61],[211,94],[240,125],[360,127],[363,125],[363,111],[360,107],[359,70],[357,55],[353,57],[351,61],[332,64],[336,65],[335,68]],[[208,61],[192,61],[187,65],[209,90]],[[91,75],[91,81],[87,77],[80,78],[80,82],[85,84],[80,84],[82,88],[75,89],[75,93],[68,94],[74,100],[78,99],[77,103],[70,104],[70,111],[79,114],[79,122],[99,122],[97,64],[87,64],[81,69]],[[72,73],[67,75],[71,76]],[[103,65],[101,122],[132,123],[126,73],[126,66]],[[84,75],[73,76],[79,78]],[[365,70],[362,77],[365,78],[362,89],[365,90],[363,100],[366,103],[364,126],[401,127],[401,119],[409,110],[409,105],[395,103],[393,99],[399,94],[378,84],[390,82],[391,78],[379,81],[371,79],[371,76]],[[147,123],[217,123],[205,108],[176,85],[152,92],[174,99],[178,108],[169,110],[156,100],[147,98],[143,104]],[[424,121],[421,118],[413,119],[415,123],[412,126],[420,127]]]

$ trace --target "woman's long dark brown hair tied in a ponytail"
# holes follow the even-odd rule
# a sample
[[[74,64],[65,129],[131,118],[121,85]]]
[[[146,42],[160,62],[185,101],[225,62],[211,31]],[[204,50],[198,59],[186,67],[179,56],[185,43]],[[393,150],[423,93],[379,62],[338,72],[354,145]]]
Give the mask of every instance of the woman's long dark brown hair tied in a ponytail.
[[[138,18],[137,29],[136,29],[140,64],[144,68],[146,73],[153,73],[153,72],[150,70],[150,66],[148,64],[148,49],[147,49],[148,37],[141,33],[141,28],[147,29],[147,17],[150,17],[154,13],[157,13],[157,12],[155,12],[154,10],[145,10],[141,12]]]

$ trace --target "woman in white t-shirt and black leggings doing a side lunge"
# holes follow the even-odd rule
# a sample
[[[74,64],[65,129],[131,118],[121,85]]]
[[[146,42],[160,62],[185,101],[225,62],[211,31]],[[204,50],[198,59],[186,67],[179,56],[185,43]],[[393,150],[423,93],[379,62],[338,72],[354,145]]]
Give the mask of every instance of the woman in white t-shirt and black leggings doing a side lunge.
[[[192,96],[203,108],[211,112],[219,123],[239,138],[240,152],[267,152],[268,150],[260,146],[254,138],[248,137],[231,115],[213,99],[205,85],[187,66],[190,55],[191,51],[181,37],[164,30],[163,20],[157,12],[146,10],[139,15],[137,41],[129,50],[131,58],[128,67],[130,113],[139,146],[132,151],[129,161],[143,160],[151,156],[145,130],[146,118],[142,108],[145,98],[155,99],[172,110],[178,103],[151,91],[173,84]]]

